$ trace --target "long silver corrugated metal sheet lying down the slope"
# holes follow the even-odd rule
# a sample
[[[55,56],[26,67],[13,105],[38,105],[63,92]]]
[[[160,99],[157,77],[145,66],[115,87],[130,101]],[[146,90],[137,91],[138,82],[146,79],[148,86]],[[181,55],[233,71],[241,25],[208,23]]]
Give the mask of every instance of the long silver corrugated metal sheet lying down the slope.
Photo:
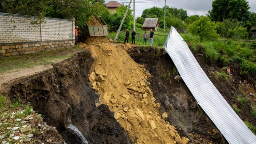
[[[256,144],[256,136],[212,84],[174,27],[164,47],[196,101],[226,140],[231,144]]]

